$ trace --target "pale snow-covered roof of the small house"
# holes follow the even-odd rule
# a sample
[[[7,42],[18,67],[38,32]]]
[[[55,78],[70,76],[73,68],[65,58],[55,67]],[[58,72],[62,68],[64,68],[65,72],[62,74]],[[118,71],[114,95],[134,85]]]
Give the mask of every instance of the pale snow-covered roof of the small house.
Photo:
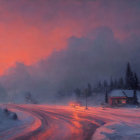
[[[133,97],[133,90],[120,90],[120,89],[118,89],[118,90],[112,90],[111,92],[110,92],[110,96],[111,97],[124,97],[125,96],[125,94],[123,93],[123,92],[125,92],[125,94],[126,94],[126,96],[127,97]],[[137,93],[138,93],[139,91],[137,91]]]

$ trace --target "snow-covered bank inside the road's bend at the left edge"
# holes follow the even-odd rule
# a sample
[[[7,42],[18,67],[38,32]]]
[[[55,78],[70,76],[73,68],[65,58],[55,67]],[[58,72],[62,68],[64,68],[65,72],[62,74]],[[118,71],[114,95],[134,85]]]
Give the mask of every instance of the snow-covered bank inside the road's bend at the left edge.
[[[0,105],[0,140],[14,140],[21,134],[40,127],[38,118],[10,106],[10,104]],[[13,114],[16,114],[17,119],[13,117]]]

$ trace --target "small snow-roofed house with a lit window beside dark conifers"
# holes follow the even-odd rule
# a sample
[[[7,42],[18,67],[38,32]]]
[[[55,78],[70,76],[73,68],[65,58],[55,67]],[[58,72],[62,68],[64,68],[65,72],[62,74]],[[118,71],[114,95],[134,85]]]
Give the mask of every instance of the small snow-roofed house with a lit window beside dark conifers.
[[[137,91],[137,95],[140,92]],[[139,94],[140,95],[140,94]],[[134,104],[133,90],[112,90],[109,94],[109,104],[112,106],[122,106],[125,104]]]

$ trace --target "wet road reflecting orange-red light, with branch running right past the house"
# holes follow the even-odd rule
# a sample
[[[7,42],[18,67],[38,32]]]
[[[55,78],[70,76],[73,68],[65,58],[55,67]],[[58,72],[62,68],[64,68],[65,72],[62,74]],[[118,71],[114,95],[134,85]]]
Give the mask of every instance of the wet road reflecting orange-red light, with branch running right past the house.
[[[139,121],[140,114],[129,110],[84,106],[57,105],[7,105],[9,109],[20,111],[21,120],[29,120],[22,125],[3,132],[0,138],[9,140],[87,140],[91,139],[96,128],[104,123]],[[118,115],[119,114],[119,115]],[[24,118],[25,116],[25,118]]]

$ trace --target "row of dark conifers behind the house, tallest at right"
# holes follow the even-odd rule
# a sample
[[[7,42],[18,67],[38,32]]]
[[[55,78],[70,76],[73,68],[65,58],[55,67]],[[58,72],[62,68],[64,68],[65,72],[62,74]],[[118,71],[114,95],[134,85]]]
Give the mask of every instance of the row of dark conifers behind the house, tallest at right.
[[[98,81],[96,85],[87,84],[87,88],[74,90],[77,98],[90,97],[93,93],[106,93],[114,89],[131,89],[140,90],[139,79],[135,72],[132,71],[130,63],[127,64],[125,75],[120,78],[110,78],[110,81]]]

